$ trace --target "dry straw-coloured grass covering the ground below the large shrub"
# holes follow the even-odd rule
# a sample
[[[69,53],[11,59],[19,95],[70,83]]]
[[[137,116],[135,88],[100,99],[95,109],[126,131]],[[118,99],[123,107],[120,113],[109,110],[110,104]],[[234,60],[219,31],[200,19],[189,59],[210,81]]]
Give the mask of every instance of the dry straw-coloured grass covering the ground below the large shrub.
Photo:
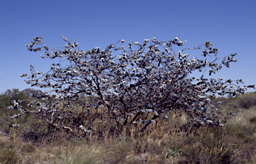
[[[224,100],[224,99],[223,99]],[[217,100],[219,101],[219,100]],[[256,107],[225,99],[224,127],[184,125],[185,114],[137,127],[96,120],[85,138],[24,140],[19,128],[0,134],[1,163],[256,163]],[[227,112],[239,113],[237,116]],[[91,113],[97,116],[96,113]],[[29,121],[35,123],[33,121]],[[29,125],[28,122],[26,122]],[[34,131],[45,131],[35,127]],[[28,130],[28,129],[27,129]]]

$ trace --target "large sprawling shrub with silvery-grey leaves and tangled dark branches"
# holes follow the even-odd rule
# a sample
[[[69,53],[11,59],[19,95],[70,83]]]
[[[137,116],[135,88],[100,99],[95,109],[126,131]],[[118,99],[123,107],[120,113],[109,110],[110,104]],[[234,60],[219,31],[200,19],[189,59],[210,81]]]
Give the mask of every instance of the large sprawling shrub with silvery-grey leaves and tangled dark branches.
[[[77,41],[72,43],[61,37],[67,42],[61,50],[43,44],[43,37],[26,44],[30,51],[45,50],[42,58],[59,58],[59,62],[53,63],[47,73],[30,66],[31,76],[21,76],[27,77],[26,82],[31,86],[49,88],[45,102],[36,102],[37,110],[30,112],[43,114],[41,119],[50,125],[64,127],[72,133],[74,128],[56,120],[63,116],[61,111],[74,110],[71,102],[81,95],[91,100],[89,104],[81,104],[87,110],[85,116],[89,110],[102,110],[108,119],[119,125],[145,123],[143,131],[159,117],[167,119],[169,112],[181,111],[191,117],[188,123],[221,125],[207,95],[235,96],[247,88],[255,88],[254,85],[239,86],[242,80],[204,78],[205,74],[211,76],[222,66],[229,67],[230,62],[237,61],[233,58],[236,54],[217,56],[217,48],[212,48],[211,42],[175,52],[173,46],[184,44],[179,38],[171,41],[145,39],[143,44],[129,42],[128,48],[117,46],[125,42],[121,40],[103,50],[95,47],[83,51]],[[190,58],[189,54],[184,54],[186,50],[201,51],[203,59]],[[220,64],[217,60],[221,60]],[[196,70],[202,72],[201,77],[189,78]],[[72,126],[87,131],[81,122]]]

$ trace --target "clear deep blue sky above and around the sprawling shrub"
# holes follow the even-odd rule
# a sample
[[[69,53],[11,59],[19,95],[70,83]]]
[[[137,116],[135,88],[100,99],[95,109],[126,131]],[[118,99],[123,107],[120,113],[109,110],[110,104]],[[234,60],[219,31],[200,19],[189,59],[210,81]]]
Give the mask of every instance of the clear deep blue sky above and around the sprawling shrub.
[[[61,35],[71,42],[77,39],[83,50],[106,48],[122,39],[127,44],[153,37],[187,41],[177,51],[210,41],[218,48],[218,56],[237,53],[237,62],[214,77],[256,84],[255,8],[255,0],[0,1],[0,94],[12,88],[31,88],[20,77],[30,74],[30,64],[35,70],[50,70],[53,61],[41,58],[43,52],[30,52],[25,44],[43,37],[47,46],[61,48],[66,44]],[[193,53],[197,56],[199,52]],[[193,57],[193,53],[189,55]]]

